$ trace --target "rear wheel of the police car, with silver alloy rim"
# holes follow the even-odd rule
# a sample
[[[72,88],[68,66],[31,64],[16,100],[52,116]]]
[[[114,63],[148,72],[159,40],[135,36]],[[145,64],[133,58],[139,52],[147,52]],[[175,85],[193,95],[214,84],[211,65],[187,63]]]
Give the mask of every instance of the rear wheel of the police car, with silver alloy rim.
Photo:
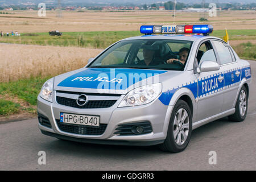
[[[235,108],[236,112],[228,118],[230,121],[242,122],[246,118],[248,109],[248,93],[244,85],[239,92]]]

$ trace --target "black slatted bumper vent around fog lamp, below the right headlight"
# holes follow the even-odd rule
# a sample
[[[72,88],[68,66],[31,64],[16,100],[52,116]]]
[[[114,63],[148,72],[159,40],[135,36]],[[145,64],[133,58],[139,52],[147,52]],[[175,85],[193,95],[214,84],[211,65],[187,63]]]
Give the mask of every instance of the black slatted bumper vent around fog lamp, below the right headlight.
[[[142,131],[138,132],[137,127],[141,127]],[[142,135],[142,134],[151,133],[152,126],[148,121],[139,122],[139,123],[127,123],[127,124],[118,125],[118,128],[115,130],[118,130],[118,131],[115,131],[114,134],[119,134],[119,135]]]

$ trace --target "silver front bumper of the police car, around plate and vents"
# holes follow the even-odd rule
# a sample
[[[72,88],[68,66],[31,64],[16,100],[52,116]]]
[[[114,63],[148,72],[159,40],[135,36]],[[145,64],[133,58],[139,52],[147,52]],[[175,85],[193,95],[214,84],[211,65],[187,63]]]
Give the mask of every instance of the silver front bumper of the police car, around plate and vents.
[[[38,113],[49,119],[51,128],[38,123],[39,129],[43,134],[56,138],[74,140],[85,143],[101,143],[101,144],[122,144],[122,145],[138,145],[148,146],[163,143],[166,138],[168,122],[170,117],[167,109],[172,110],[172,106],[163,105],[159,100],[155,100],[150,104],[118,108],[119,102],[124,96],[112,106],[102,109],[77,109],[74,107],[57,104],[56,101],[48,102],[38,96]],[[90,114],[100,115],[100,122],[107,124],[105,132],[101,135],[81,135],[61,131],[56,123],[60,119],[60,112],[74,114]],[[114,134],[118,125],[126,123],[150,122],[152,132],[141,135],[119,135]]]

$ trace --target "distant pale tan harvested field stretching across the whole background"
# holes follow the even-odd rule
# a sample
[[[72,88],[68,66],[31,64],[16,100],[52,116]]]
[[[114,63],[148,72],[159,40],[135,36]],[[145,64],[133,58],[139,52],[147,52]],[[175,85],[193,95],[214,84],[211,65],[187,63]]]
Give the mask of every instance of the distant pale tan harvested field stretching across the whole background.
[[[38,11],[13,11],[14,14],[0,15],[2,31],[64,32],[82,31],[138,31],[142,24],[172,24],[174,14],[166,11],[63,11],[62,18],[56,17],[56,11],[47,11],[46,17],[39,17]],[[200,22],[202,13],[177,11],[175,23],[207,23],[214,30],[256,29],[256,11],[220,11],[219,16],[209,17]]]

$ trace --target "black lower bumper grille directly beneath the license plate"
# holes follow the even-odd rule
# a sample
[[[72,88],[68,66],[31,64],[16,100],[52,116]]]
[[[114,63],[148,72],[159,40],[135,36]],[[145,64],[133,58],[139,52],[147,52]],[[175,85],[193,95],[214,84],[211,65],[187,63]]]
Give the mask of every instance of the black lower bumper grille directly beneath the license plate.
[[[71,125],[61,123],[60,119],[56,119],[56,122],[61,131],[79,135],[102,135],[108,126],[108,124],[100,124],[100,127]]]

